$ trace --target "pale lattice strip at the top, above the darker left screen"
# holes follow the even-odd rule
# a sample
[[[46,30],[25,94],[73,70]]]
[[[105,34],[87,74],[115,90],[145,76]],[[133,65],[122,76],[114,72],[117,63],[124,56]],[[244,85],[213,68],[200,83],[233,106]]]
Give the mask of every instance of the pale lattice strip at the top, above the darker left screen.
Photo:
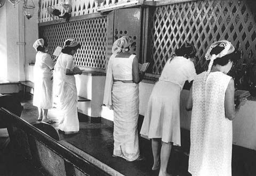
[[[96,10],[99,8],[123,4],[132,1],[135,0],[105,0],[103,3],[100,4],[100,6],[98,6],[98,4],[94,2],[94,0],[72,0],[71,16],[90,14],[97,12]],[[65,13],[63,7],[61,6],[61,0],[39,0],[39,23],[58,19],[57,17],[52,18],[50,14],[47,13],[47,7],[49,5],[53,6],[55,9],[60,10],[62,14]]]

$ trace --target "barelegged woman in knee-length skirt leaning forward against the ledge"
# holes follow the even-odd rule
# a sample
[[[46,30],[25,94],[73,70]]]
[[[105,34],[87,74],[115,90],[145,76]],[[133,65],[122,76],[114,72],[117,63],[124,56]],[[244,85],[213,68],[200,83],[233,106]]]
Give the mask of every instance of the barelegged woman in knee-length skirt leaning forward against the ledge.
[[[159,169],[160,159],[159,175],[169,175],[166,169],[172,145],[180,146],[180,91],[186,80],[191,81],[196,76],[195,54],[196,49],[191,44],[185,43],[176,49],[149,97],[140,133],[152,139],[152,170]]]

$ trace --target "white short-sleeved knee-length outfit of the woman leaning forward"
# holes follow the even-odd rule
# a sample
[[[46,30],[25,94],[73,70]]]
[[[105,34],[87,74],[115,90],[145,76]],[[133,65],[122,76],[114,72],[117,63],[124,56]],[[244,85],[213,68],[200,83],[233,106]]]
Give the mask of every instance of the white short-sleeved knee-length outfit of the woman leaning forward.
[[[180,91],[196,76],[193,62],[181,56],[168,60],[149,97],[141,136],[162,138],[180,146]]]

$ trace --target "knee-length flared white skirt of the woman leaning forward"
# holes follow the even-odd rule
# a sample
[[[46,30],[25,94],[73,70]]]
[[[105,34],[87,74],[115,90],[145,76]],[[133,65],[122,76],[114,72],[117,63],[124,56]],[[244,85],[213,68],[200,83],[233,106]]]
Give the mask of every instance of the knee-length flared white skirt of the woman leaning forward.
[[[165,143],[180,146],[180,86],[156,82],[140,131],[142,137],[162,138]]]

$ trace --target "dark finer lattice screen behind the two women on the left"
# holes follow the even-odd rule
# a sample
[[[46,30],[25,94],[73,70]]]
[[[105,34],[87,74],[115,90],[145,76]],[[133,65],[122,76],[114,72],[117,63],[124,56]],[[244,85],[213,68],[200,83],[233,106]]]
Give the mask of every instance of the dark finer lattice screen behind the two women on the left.
[[[49,54],[52,55],[57,46],[63,46],[67,38],[75,38],[82,45],[74,55],[77,66],[106,68],[106,16],[41,26],[39,32],[49,43]]]

